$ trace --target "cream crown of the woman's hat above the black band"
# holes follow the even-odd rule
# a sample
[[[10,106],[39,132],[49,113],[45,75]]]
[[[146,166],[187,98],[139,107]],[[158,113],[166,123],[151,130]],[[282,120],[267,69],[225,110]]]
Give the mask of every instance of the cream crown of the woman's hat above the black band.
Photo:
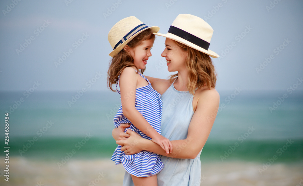
[[[190,14],[179,14],[171,25],[195,35],[208,43],[210,43],[212,34],[214,32],[207,22],[195,15]]]

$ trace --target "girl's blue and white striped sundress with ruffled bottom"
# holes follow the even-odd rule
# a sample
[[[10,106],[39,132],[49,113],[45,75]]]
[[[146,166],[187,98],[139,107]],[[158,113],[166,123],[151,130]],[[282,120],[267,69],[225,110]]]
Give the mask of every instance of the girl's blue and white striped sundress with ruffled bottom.
[[[161,134],[162,101],[160,94],[151,87],[151,83],[147,78],[145,78],[140,72],[138,72],[138,74],[148,82],[148,85],[136,89],[135,108],[143,115],[146,121],[148,121],[148,123],[155,128],[159,134]],[[118,88],[117,91],[120,94]],[[135,125],[133,125],[132,122],[123,115],[121,105],[114,117],[114,125],[117,128],[122,123],[131,124],[129,128],[125,129],[125,132],[127,129],[131,129],[143,138],[151,140],[150,137],[138,130],[138,128],[136,128]],[[160,160],[159,154],[149,151],[141,151],[137,154],[126,155],[121,151],[121,145],[118,145],[111,160],[115,161],[116,165],[122,163],[129,174],[137,177],[149,177],[158,174],[163,169],[163,164]]]

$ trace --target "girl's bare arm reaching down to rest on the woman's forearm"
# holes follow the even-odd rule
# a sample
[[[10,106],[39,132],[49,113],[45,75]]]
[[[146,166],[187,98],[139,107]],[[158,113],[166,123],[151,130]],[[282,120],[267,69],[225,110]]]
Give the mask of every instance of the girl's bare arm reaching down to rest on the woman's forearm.
[[[122,112],[132,124],[140,131],[149,136],[152,141],[159,144],[167,153],[172,151],[171,142],[161,136],[135,108],[136,87],[138,75],[132,67],[126,67],[120,75],[120,92]]]

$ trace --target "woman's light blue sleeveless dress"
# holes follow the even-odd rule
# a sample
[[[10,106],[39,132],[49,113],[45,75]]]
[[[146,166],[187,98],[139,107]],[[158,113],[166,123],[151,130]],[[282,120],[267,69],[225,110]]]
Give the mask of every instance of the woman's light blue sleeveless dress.
[[[169,140],[186,139],[188,126],[194,114],[193,95],[188,91],[178,91],[174,83],[161,95],[162,122],[161,135]],[[175,147],[177,152],[181,147]],[[202,150],[201,150],[202,151]],[[163,170],[157,174],[158,186],[198,186],[201,181],[200,153],[195,159],[177,159],[160,156]],[[134,186],[131,175],[125,172],[123,186]]]

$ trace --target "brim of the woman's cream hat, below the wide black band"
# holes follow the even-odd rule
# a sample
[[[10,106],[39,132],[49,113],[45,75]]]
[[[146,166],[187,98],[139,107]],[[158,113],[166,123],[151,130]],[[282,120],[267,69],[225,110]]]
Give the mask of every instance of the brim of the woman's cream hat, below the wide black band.
[[[191,43],[191,42],[189,42],[189,41],[187,41],[187,40],[185,40],[185,39],[183,39],[183,38],[181,38],[181,37],[179,37],[179,36],[176,36],[176,35],[174,35],[174,34],[171,34],[171,33],[167,33],[167,34],[160,34],[160,33],[153,33],[153,34],[155,34],[155,35],[159,35],[159,36],[163,36],[163,37],[165,37],[165,38],[169,38],[169,39],[172,39],[172,40],[175,40],[175,41],[177,41],[177,42],[180,42],[180,43],[182,43],[182,44],[184,44],[184,45],[187,45],[187,46],[189,46],[189,47],[191,47],[191,48],[194,48],[194,49],[196,49],[196,50],[198,50],[198,51],[201,51],[201,52],[203,52],[203,53],[205,53],[205,54],[207,54],[207,55],[209,55],[209,56],[211,56],[211,57],[213,57],[213,58],[218,58],[218,57],[220,57],[217,53],[215,53],[214,51],[211,51],[211,50],[205,50],[204,48],[201,48],[201,47],[199,47],[198,45],[195,45],[195,44],[193,44],[193,43]]]

